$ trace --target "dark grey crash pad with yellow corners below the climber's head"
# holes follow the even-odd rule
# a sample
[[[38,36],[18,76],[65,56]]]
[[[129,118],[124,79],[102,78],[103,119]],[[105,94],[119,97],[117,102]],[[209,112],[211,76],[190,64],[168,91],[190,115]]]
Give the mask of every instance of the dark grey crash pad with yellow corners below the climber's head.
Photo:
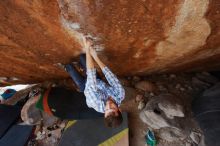
[[[128,120],[123,113],[123,123],[117,128],[104,125],[103,119],[77,120],[61,137],[59,146],[128,146]]]

